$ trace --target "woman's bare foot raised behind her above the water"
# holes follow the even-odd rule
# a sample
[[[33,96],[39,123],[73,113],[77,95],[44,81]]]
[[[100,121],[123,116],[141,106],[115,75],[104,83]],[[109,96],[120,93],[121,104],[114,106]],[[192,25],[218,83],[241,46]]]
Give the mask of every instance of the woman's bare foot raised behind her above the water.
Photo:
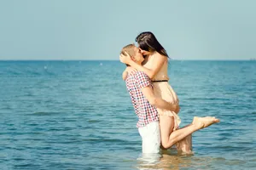
[[[195,116],[192,124],[194,124],[198,129],[202,129],[205,127],[209,127],[214,123],[219,122],[219,119],[213,116],[206,116],[206,117],[198,117]]]

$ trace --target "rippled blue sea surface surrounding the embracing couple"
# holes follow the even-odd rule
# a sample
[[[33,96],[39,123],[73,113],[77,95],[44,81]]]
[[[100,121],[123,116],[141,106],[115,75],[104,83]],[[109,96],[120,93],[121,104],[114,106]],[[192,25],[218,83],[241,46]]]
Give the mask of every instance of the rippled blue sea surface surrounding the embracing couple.
[[[194,155],[143,156],[119,61],[0,61],[0,169],[256,169],[256,61],[171,60]]]

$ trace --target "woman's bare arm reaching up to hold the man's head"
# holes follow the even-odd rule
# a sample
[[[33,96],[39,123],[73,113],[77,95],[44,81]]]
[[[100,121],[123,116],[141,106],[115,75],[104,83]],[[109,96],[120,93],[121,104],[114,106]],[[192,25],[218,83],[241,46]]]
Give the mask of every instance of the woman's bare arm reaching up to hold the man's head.
[[[123,54],[120,55],[120,61],[122,63],[131,65],[131,67],[135,68],[137,71],[143,71],[144,73],[146,73],[148,75],[148,77],[150,79],[152,79],[156,73],[158,73],[158,71],[160,71],[160,68],[162,67],[162,65],[166,62],[166,56],[163,56],[161,54],[155,54],[157,55],[156,58],[154,58],[154,61],[152,61],[154,63],[153,67],[151,69],[148,69],[146,67],[143,67],[143,65],[139,65],[136,62],[134,62],[131,57],[125,56]]]

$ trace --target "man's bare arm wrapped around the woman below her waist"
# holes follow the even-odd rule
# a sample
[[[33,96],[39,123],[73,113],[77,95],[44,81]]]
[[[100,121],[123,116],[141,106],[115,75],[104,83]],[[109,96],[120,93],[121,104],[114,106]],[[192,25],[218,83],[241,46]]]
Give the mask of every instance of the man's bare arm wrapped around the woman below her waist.
[[[146,97],[146,99],[148,99],[148,102],[150,103],[150,105],[154,105],[157,108],[165,109],[168,111],[174,111],[178,113],[179,111],[178,105],[173,105],[164,99],[156,98],[154,96],[153,89],[151,87],[148,86],[148,87],[142,88],[142,92]]]

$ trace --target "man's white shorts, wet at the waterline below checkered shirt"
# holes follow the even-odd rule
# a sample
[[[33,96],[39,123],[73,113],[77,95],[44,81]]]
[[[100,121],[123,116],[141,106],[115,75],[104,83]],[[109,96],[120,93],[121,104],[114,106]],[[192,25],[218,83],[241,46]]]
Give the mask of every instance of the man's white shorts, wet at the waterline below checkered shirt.
[[[145,127],[139,127],[138,131],[143,139],[143,153],[160,152],[160,127],[159,122],[150,122]]]

